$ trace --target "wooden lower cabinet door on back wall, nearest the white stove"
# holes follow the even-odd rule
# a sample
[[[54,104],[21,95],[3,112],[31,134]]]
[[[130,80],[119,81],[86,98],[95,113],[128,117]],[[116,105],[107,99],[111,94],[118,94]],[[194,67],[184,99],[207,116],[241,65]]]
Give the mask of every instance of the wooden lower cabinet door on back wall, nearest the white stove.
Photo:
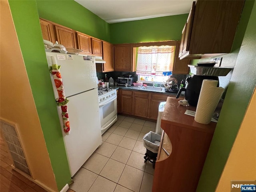
[[[121,90],[121,113],[132,115],[132,91]]]

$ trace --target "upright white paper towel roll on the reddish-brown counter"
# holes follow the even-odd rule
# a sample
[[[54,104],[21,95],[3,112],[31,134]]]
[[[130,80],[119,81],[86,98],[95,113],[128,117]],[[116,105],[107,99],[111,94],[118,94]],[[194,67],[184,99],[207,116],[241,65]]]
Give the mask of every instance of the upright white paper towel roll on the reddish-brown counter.
[[[196,107],[195,121],[209,124],[224,88],[217,87],[218,81],[204,79]]]

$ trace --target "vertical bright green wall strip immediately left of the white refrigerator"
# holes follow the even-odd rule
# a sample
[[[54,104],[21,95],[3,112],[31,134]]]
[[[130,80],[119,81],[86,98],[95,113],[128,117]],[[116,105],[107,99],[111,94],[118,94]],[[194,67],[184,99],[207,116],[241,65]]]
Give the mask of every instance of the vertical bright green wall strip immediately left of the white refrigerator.
[[[58,190],[61,190],[65,184],[71,183],[71,175],[44,51],[36,1],[9,0],[9,4],[52,169]]]

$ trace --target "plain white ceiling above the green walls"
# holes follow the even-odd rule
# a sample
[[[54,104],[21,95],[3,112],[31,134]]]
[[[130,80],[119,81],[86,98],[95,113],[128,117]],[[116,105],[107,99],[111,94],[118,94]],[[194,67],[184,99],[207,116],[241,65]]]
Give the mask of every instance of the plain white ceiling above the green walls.
[[[75,0],[108,23],[189,13],[193,0]]]

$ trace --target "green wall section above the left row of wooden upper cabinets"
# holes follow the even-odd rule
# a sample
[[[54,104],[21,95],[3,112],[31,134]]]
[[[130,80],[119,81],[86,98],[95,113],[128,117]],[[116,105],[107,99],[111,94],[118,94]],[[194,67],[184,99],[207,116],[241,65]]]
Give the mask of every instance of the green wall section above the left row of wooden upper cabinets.
[[[110,24],[74,0],[36,0],[40,18],[110,42]]]

